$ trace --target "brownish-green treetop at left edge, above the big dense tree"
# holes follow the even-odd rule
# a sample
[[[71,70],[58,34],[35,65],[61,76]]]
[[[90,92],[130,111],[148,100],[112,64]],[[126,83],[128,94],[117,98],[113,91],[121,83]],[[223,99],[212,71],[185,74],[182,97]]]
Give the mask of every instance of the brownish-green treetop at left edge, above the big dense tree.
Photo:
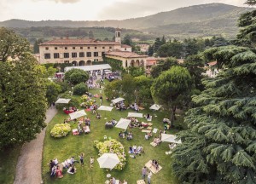
[[[26,38],[19,37],[14,31],[0,28],[0,61],[7,61],[10,58],[19,59],[26,52],[30,51]]]

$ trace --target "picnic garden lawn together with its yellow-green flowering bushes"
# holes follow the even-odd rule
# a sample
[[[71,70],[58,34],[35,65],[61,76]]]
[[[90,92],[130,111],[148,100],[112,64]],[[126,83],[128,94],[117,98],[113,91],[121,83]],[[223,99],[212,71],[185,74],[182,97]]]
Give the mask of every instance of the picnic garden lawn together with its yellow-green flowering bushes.
[[[103,90],[102,90],[103,91]],[[100,89],[89,89],[91,94],[100,94]],[[87,97],[80,95],[73,95],[73,98],[78,100],[80,103],[84,102]],[[86,98],[86,99],[84,99]],[[90,101],[96,101],[100,104],[100,98],[98,96],[91,97]],[[110,102],[106,101],[106,96],[103,95],[103,106],[109,106]],[[79,110],[84,107],[79,106]],[[124,138],[119,137],[119,132],[124,129],[118,129],[113,127],[112,129],[105,129],[105,123],[112,118],[119,121],[120,118],[126,118],[128,112],[134,112],[131,109],[125,111],[119,111],[113,108],[111,112],[96,111],[102,115],[102,118],[97,119],[96,113],[92,111],[86,111],[86,117],[90,118],[90,133],[83,135],[73,135],[72,129],[78,128],[78,123],[69,122],[68,125],[64,126],[63,121],[69,116],[59,110],[58,114],[49,123],[46,135],[44,139],[44,156],[43,156],[43,178],[44,183],[105,183],[109,180],[108,174],[112,175],[120,181],[127,181],[128,183],[137,183],[137,180],[142,179],[142,168],[148,163],[149,160],[157,159],[162,169],[152,176],[152,183],[177,183],[177,180],[172,175],[171,159],[170,155],[166,155],[166,152],[170,150],[168,142],[162,142],[159,146],[153,147],[150,142],[153,141],[154,136],[159,136],[159,130],[164,129],[162,123],[163,118],[168,116],[167,112],[163,111],[152,111],[147,109],[141,110],[143,114],[150,114],[153,116],[152,127],[158,129],[157,133],[153,133],[153,137],[149,140],[145,140],[145,133],[142,129],[129,128],[128,131],[132,131],[133,139],[127,141]],[[106,119],[107,118],[107,119]],[[145,118],[137,118],[139,121],[146,122]],[[183,122],[182,116],[177,115],[175,124],[181,124]],[[62,124],[62,125],[60,125]],[[70,126],[69,126],[70,125]],[[60,130],[61,129],[61,130]],[[71,131],[70,131],[71,129]],[[56,130],[61,132],[61,137],[58,137]],[[176,134],[177,129],[168,129],[167,134]],[[97,162],[97,158],[102,155],[103,152],[108,152],[109,144],[114,145],[116,152],[125,151],[124,155],[119,154],[121,163],[118,164],[113,170],[101,169]],[[135,155],[135,158],[131,157],[128,152],[129,147],[137,145],[143,147],[144,153]],[[79,154],[84,152],[84,166],[79,163],[75,164],[77,172],[74,175],[67,174],[67,170],[63,170],[63,178],[52,178],[49,173],[49,161],[57,158],[59,163],[64,162],[68,158],[74,157],[75,160],[79,160]],[[90,169],[90,157],[95,159],[93,168]]]

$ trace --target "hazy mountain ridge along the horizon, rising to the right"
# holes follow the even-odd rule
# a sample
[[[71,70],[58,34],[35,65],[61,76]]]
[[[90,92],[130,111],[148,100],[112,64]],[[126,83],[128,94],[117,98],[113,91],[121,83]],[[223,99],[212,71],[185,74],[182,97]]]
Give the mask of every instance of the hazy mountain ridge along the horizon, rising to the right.
[[[72,20],[6,20],[0,26],[6,27],[117,27],[136,29],[154,35],[169,37],[207,37],[220,35],[234,37],[238,28],[236,20],[239,14],[253,8],[236,7],[223,3],[210,3],[161,12],[145,17],[127,20],[72,21]]]

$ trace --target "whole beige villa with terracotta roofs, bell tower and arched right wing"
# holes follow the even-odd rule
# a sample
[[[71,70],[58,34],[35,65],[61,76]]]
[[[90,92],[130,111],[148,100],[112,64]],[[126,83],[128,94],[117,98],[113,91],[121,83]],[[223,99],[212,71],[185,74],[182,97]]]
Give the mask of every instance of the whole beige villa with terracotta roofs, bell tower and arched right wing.
[[[103,61],[103,56],[122,60],[122,66],[146,66],[147,55],[131,52],[131,46],[121,43],[121,30],[115,30],[115,41],[105,42],[89,38],[61,37],[39,45],[39,63],[72,63],[73,66],[90,66]]]

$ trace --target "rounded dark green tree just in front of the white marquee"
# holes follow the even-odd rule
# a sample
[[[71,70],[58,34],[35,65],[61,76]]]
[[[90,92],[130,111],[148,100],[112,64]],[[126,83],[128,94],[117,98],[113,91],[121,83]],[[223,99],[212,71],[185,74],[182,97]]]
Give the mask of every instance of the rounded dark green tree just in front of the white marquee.
[[[83,82],[85,83],[88,79],[89,73],[81,69],[72,69],[65,73],[65,80],[73,85]]]

